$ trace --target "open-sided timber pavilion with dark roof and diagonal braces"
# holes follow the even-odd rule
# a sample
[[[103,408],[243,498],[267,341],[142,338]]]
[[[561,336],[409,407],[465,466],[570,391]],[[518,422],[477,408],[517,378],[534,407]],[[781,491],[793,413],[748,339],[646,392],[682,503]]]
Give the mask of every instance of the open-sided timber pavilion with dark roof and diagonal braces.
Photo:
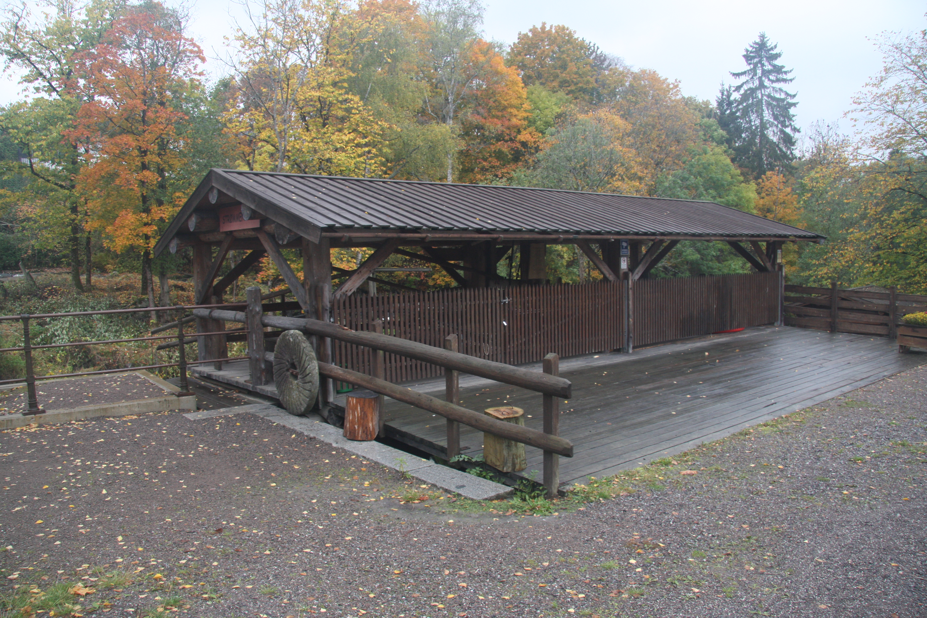
[[[516,283],[537,290],[540,285],[530,284],[544,284],[547,280],[546,246],[576,245],[602,272],[605,282],[612,284],[615,290],[622,290],[620,300],[615,303],[584,302],[625,305],[617,318],[625,322],[621,344],[608,345],[610,349],[621,347],[630,351],[636,332],[631,322],[636,319],[642,323],[648,317],[641,314],[641,309],[638,314],[634,313],[636,301],[631,299],[635,282],[646,279],[647,273],[682,240],[727,243],[757,273],[767,273],[761,282],[766,286],[763,289],[770,288],[769,282],[778,282],[776,290],[768,292],[761,301],[770,306],[774,298],[776,306],[765,307],[762,317],[756,318],[757,323],[768,323],[770,316],[774,317],[771,322],[781,322],[783,243],[819,242],[823,237],[705,201],[510,186],[210,170],[159,239],[155,254],[165,249],[176,252],[187,246],[193,248],[197,304],[222,303],[223,293],[230,285],[265,255],[269,256],[296,301],[269,304],[264,310],[298,309],[307,317],[328,322],[333,320],[333,306],[341,302],[340,307],[347,308],[345,299],[372,279],[375,269],[393,254],[418,259],[447,271],[464,290],[485,290]],[[514,246],[519,247],[517,282],[497,274],[497,264],[510,255]],[[336,247],[375,250],[355,270],[346,271],[331,263],[330,251]],[[290,268],[282,249],[301,251],[301,277]],[[246,250],[248,254],[217,280],[232,250]],[[402,287],[385,280],[377,280],[377,283]],[[750,302],[754,292],[728,289],[727,294],[746,296],[746,300],[729,299],[743,304]],[[688,302],[679,298],[672,302]],[[498,302],[508,301],[504,298]],[[712,302],[717,305],[717,301]],[[700,311],[699,307],[693,307],[687,314],[689,317],[680,320],[692,323],[703,320]],[[655,315],[658,311],[648,309],[646,312]],[[478,322],[479,316],[475,319]],[[762,322],[764,320],[768,322]],[[341,322],[354,326],[360,323]],[[708,322],[699,328],[717,328],[717,323]],[[502,323],[508,325],[505,320]],[[718,323],[723,326],[739,322],[729,319]],[[594,330],[598,325],[587,323],[586,327]],[[223,322],[197,318],[199,333],[215,333],[224,328]],[[436,328],[439,330],[441,326],[438,324]],[[683,332],[690,331],[682,328],[679,333]],[[208,335],[200,340],[199,359],[227,358],[225,335]],[[541,341],[539,349],[544,345]],[[327,349],[317,348],[317,355],[320,359],[331,360],[330,344]],[[504,358],[510,361],[510,357]],[[524,358],[511,359],[525,361]],[[400,374],[392,374],[392,377],[395,380]],[[248,384],[260,390],[260,377],[251,376]],[[333,397],[331,387],[324,388],[321,403],[324,405]]]

